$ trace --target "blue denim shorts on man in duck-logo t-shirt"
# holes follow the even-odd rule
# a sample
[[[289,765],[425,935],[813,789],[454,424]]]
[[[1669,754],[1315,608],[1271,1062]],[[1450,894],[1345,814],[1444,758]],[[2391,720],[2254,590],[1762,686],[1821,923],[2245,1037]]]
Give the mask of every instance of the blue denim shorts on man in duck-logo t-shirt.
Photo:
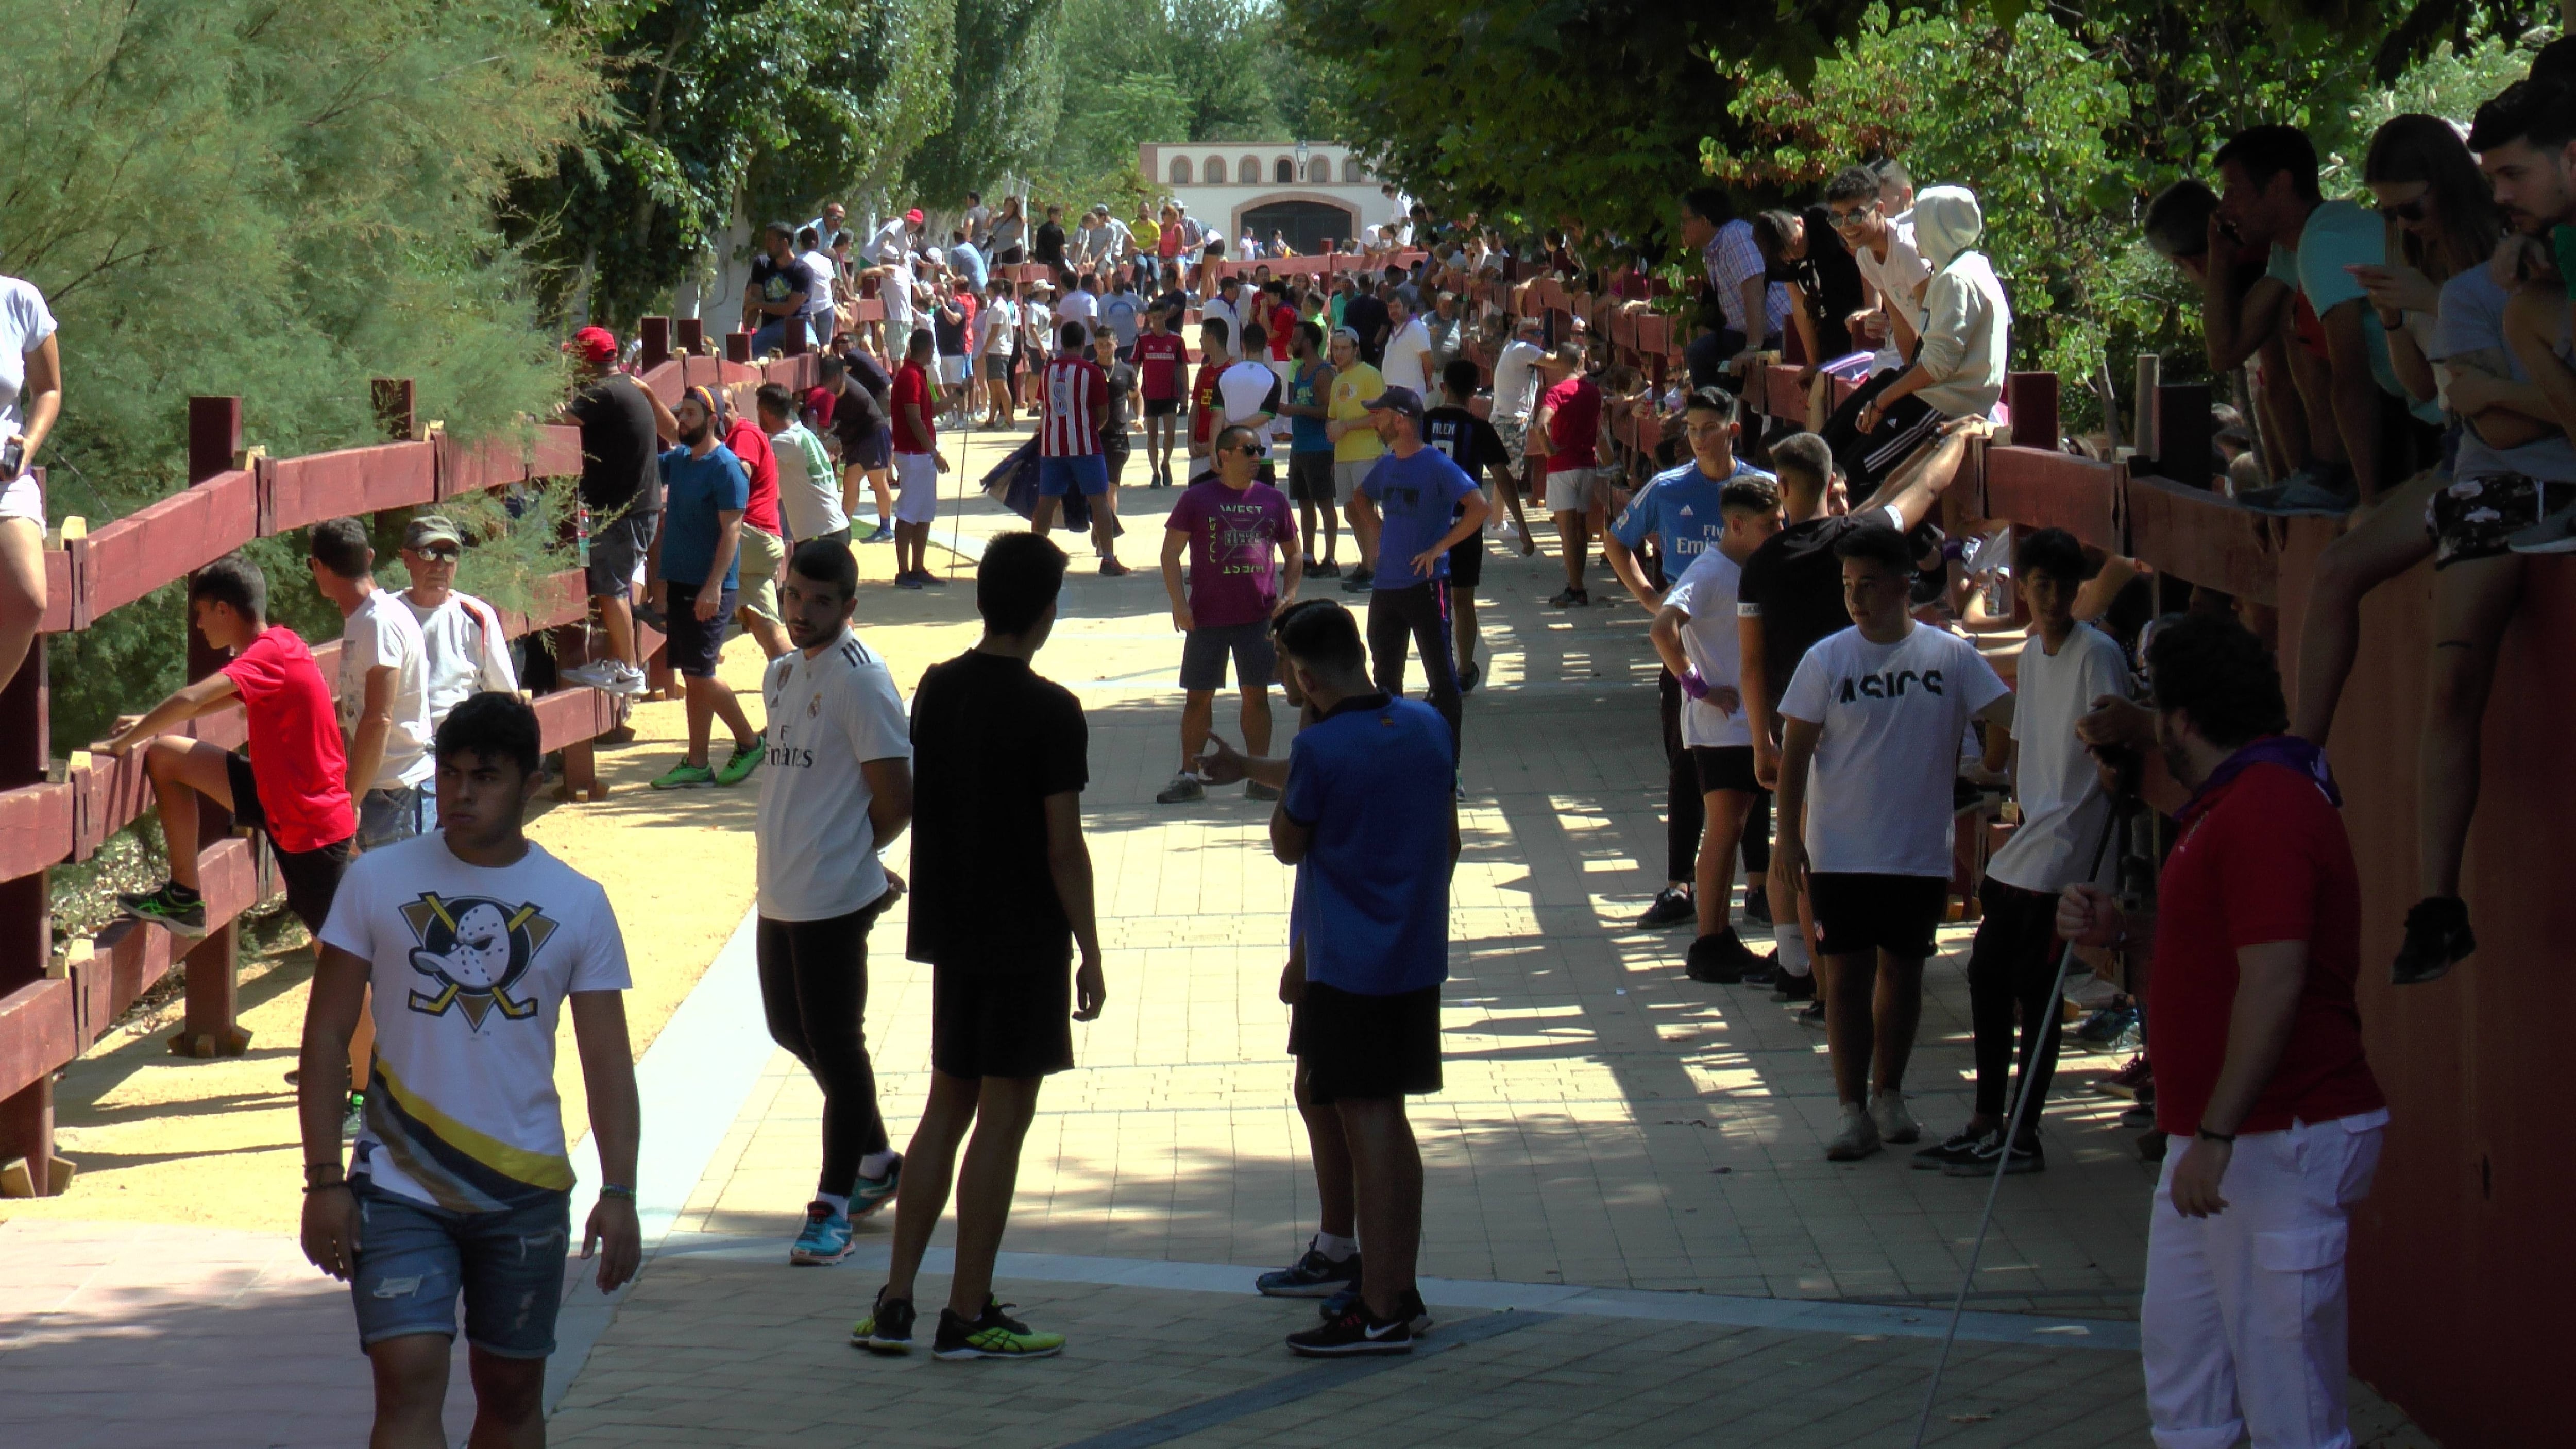
[[[448,1212],[379,1192],[358,1194],[358,1346],[404,1333],[456,1338],[456,1297],[466,1300],[466,1343],[502,1359],[554,1354],[554,1310],[564,1302],[572,1246],[572,1194],[505,1212]]]

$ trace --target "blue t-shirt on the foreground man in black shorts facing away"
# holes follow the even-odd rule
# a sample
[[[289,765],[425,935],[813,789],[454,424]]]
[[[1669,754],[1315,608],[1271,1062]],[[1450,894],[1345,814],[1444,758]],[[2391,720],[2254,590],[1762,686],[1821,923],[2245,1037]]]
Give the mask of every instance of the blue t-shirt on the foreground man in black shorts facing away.
[[[1306,981],[1363,996],[1448,981],[1455,762],[1422,700],[1342,700],[1296,734],[1280,808],[1314,831],[1296,893]]]

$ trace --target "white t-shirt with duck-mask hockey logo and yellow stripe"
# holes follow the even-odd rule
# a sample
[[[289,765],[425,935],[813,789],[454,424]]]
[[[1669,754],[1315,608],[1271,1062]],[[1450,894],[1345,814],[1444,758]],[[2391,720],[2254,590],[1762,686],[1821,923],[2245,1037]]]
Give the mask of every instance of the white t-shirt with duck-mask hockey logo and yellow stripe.
[[[376,988],[350,1176],[451,1212],[572,1192],[554,1029],[564,996],[629,986],[598,880],[533,842],[487,867],[412,836],[350,862],[322,945],[368,960]]]

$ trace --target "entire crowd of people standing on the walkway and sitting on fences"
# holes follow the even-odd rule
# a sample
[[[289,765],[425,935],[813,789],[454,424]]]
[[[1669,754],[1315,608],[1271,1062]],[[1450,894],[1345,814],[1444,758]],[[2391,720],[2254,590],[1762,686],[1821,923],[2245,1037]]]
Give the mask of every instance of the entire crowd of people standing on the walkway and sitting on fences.
[[[2293,126],[2241,131],[2210,180],[2159,193],[2146,242],[2200,286],[2208,360],[2249,368],[2251,407],[2213,420],[2208,476],[2179,481],[2347,517],[2316,569],[2295,695],[2267,610],[2177,600],[2063,530],[1945,510],[1968,448],[2014,422],[2012,304],[1976,193],[1917,190],[1888,157],[1855,160],[1808,203],[1680,198],[1700,275],[1687,376],[1662,383],[1579,322],[1510,314],[1489,286],[1528,260],[1636,299],[1636,247],[1564,232],[1512,247],[1419,206],[1370,242],[1370,265],[1270,275],[1229,265],[1224,234],[1170,203],[1066,224],[1064,206],[1033,219],[1018,196],[969,196],[945,245],[917,208],[860,242],[832,203],[762,232],[739,324],[755,353],[824,358],[817,386],[762,386],[750,412],[711,389],[665,404],[611,332],[580,329],[562,417],[582,430],[603,649],[559,679],[644,692],[644,620],[688,721],[654,788],[760,780],[762,1004],[824,1094],[788,1256],[840,1261],[853,1225],[894,1207],[891,1269],[853,1341],[914,1346],[917,1274],[956,1197],[933,1351],[1064,1343],[1010,1318],[992,1282],[1041,1084],[1074,1063],[1069,1022],[1105,1006],[1087,728],[1033,656],[1069,566],[1059,517],[1090,530],[1103,577],[1131,574],[1118,492],[1141,432],[1144,486],[1175,489],[1159,579],[1180,752],[1157,800],[1242,782],[1273,803],[1273,854],[1296,870],[1280,999],[1321,1210],[1298,1261],[1260,1279],[1324,1300],[1293,1351],[1406,1351],[1430,1331],[1404,1099],[1440,1086],[1476,589],[1489,548],[1535,553],[1528,499],[1564,564],[1548,605],[1592,602],[1600,540],[1662,664],[1667,870],[1636,927],[1687,927],[1690,981],[1767,988],[1824,1029],[1839,1117],[1821,1153],[1917,1145],[1914,1166],[1950,1176],[2045,1171],[2066,1001],[2097,1001],[2081,1032],[2136,1048],[2105,1086],[2138,1099],[2141,1150],[2161,1161],[2143,1302],[2159,1436],[2339,1441],[2342,1233],[2388,1109],[2360,1045],[2362,901],[2324,746],[2360,600],[2432,558],[2424,898],[2393,975],[2434,981],[2476,950],[2460,854],[2499,638],[2524,561],[2576,551],[2576,365],[2550,245],[2576,226],[2576,54],[2550,46],[2468,126],[2383,124],[2362,160],[2370,206],[2321,193]],[[1293,255],[1249,234],[1231,250]],[[999,275],[1030,265],[1033,281]],[[15,329],[0,347],[5,679],[44,607],[23,466],[62,378],[44,299],[10,283],[0,301]],[[1811,365],[1803,417],[1741,396],[1752,363],[1783,353]],[[1030,530],[987,543],[984,636],[907,705],[853,631],[855,548],[891,543],[899,587],[940,587],[940,427],[1020,432],[1023,412]],[[1973,530],[1950,538],[1940,517]],[[188,607],[229,664],[98,749],[142,754],[173,842],[204,839],[206,811],[268,831],[289,909],[322,942],[299,1063],[307,1248],[355,1284],[381,1421],[435,1416],[422,1392],[443,1385],[453,1292],[386,1284],[440,1271],[466,1302],[484,1413],[507,1426],[536,1410],[551,1325],[492,1305],[513,1274],[554,1266],[495,1243],[567,1241],[551,1099],[567,1006],[608,1181],[585,1238],[605,1243],[603,1289],[636,1266],[626,960],[600,888],[520,834],[538,736],[500,615],[453,589],[466,533],[410,520],[402,592],[376,584],[368,538],[361,520],[309,533],[314,589],[345,620],[337,685],[268,620],[270,582],[224,558],[191,579]],[[1309,597],[1319,582],[1365,595],[1365,618]],[[737,633],[768,656],[757,726],[719,677]],[[1239,746],[1216,728],[1229,679]],[[1273,687],[1298,710],[1285,752]],[[178,728],[232,703],[247,752]],[[1999,800],[2004,844],[1963,862],[1958,821]],[[2143,813],[2172,826],[2123,829]],[[909,880],[878,860],[907,831]],[[2161,844],[2141,854],[2146,839]],[[935,1071],[894,1150],[860,1024],[868,932],[907,893]],[[997,896],[1030,909],[992,911]],[[173,849],[167,883],[124,909],[201,934],[196,854]],[[1906,1068],[1955,914],[1976,921],[1976,1091],[1955,1130],[1927,1132]],[[2287,1241],[2300,1253],[2277,1251]],[[2295,1292],[2267,1287],[2285,1277]]]

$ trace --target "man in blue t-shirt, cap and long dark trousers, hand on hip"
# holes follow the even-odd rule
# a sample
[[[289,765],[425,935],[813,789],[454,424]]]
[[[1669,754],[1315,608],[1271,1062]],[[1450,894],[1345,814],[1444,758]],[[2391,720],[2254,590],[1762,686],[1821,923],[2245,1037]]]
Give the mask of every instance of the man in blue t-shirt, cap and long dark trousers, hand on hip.
[[[1404,636],[1422,654],[1432,708],[1458,744],[1458,667],[1450,659],[1448,551],[1484,533],[1492,504],[1448,453],[1422,445],[1422,394],[1386,389],[1368,401],[1386,453],[1350,499],[1360,556],[1378,561],[1368,595],[1370,677],[1404,692]]]

